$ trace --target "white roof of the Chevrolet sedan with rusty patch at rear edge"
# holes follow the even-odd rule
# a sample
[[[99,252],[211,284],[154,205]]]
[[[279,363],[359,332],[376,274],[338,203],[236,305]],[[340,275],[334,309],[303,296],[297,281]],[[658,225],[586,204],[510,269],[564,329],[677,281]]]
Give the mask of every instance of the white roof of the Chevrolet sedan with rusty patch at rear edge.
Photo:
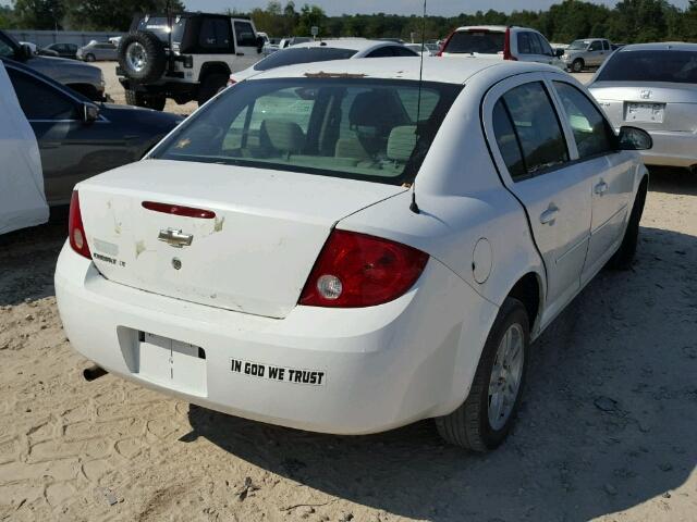
[[[535,62],[514,62],[504,60],[489,60],[481,58],[425,58],[424,82],[440,82],[447,84],[464,84],[475,74],[497,67],[501,76],[521,74],[524,72],[559,71],[551,65]],[[278,69],[270,69],[250,77],[249,80],[265,78],[297,78],[306,75],[330,75],[334,77],[370,77],[383,79],[418,80],[421,60],[414,58],[371,58],[368,60],[335,60],[331,62],[302,63]]]

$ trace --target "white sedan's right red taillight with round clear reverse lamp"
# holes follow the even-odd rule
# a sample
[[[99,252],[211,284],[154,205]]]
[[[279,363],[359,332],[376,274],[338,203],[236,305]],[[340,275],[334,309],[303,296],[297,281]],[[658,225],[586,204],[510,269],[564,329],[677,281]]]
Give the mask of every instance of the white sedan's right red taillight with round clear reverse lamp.
[[[357,308],[382,304],[408,290],[428,254],[400,243],[334,229],[305,283],[299,303]]]

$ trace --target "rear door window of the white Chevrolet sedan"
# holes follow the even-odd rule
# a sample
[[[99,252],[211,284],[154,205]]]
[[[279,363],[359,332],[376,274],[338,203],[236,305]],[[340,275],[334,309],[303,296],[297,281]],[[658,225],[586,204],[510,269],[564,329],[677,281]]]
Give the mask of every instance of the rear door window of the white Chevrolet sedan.
[[[541,82],[514,87],[500,101],[508,111],[523,157],[521,177],[536,176],[568,161],[561,124]],[[499,113],[499,117],[503,116]],[[519,171],[514,169],[512,176],[514,172]]]

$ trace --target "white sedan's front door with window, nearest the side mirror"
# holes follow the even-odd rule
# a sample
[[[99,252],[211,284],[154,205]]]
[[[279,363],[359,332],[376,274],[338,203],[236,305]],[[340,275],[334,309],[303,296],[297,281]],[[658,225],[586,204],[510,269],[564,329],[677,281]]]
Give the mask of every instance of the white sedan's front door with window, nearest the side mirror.
[[[636,161],[617,150],[612,126],[602,111],[577,86],[564,77],[552,80],[565,120],[574,136],[576,162],[592,178],[590,244],[582,285],[604,265],[622,240],[632,209]]]

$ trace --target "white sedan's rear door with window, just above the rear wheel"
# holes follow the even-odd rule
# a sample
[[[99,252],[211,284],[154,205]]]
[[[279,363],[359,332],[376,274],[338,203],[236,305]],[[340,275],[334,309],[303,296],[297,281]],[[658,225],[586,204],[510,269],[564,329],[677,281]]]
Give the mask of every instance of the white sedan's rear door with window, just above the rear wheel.
[[[590,237],[590,178],[571,162],[571,142],[543,74],[497,84],[482,114],[502,181],[523,204],[545,262],[543,327],[580,287]]]

